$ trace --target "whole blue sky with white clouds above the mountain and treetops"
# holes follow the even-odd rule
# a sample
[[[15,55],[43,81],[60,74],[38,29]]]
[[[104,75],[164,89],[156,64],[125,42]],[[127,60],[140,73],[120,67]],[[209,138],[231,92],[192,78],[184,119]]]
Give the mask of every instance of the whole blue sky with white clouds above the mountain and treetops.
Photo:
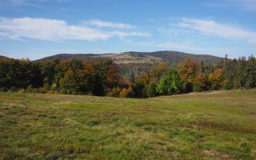
[[[1,0],[0,55],[256,54],[256,0]]]

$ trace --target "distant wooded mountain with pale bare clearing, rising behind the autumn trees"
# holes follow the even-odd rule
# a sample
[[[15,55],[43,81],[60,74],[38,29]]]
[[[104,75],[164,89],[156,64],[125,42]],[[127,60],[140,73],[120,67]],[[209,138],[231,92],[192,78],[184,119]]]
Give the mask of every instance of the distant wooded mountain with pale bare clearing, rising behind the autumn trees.
[[[186,54],[178,51],[156,51],[156,52],[124,52],[121,54],[56,54],[50,57],[38,59],[35,62],[50,62],[53,59],[61,61],[75,59],[78,61],[102,61],[110,58],[121,68],[122,78],[126,81],[134,74],[138,78],[150,71],[150,68],[160,62],[166,62],[167,66],[177,66],[179,62],[186,58],[191,58],[194,62],[204,62],[204,64],[218,64],[223,60],[206,54]]]

